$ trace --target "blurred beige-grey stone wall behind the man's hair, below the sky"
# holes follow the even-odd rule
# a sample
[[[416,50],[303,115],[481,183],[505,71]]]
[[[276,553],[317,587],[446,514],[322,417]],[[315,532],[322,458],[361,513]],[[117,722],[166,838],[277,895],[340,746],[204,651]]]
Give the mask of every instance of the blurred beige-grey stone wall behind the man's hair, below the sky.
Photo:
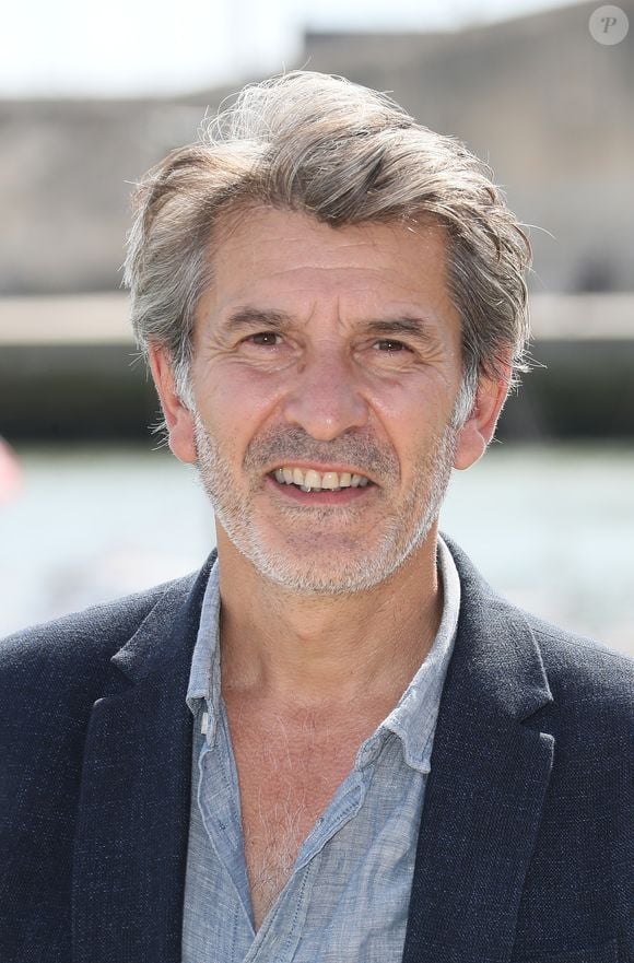
[[[621,7],[617,46],[590,37],[591,2],[447,34],[308,34],[296,66],[390,91],[488,160],[542,228],[533,291],[632,291],[634,0]],[[231,91],[0,102],[0,295],[116,290],[131,184]]]

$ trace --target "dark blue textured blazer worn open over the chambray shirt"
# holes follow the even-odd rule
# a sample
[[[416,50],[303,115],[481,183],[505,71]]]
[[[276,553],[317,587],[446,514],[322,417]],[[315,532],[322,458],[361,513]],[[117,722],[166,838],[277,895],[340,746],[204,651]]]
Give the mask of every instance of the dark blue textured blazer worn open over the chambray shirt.
[[[462,599],[403,963],[632,963],[633,663],[509,604],[445,539]],[[0,963],[180,960],[214,559],[0,643]]]

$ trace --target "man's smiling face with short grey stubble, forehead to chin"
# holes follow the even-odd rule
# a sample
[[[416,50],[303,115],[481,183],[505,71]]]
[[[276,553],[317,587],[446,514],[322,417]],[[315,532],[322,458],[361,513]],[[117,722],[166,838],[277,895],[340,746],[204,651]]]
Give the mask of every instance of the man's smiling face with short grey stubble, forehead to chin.
[[[285,210],[223,235],[193,334],[195,457],[216,526],[261,576],[366,590],[430,533],[461,376],[445,258],[435,226],[332,228]],[[421,334],[389,328],[403,319]],[[297,465],[372,483],[324,497],[274,479]]]

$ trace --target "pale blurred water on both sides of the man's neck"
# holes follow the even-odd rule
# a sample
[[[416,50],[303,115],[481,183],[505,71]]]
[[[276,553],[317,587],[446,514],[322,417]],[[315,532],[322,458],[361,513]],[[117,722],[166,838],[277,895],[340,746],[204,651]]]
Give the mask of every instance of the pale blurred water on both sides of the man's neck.
[[[0,636],[199,567],[215,544],[196,471],[165,449],[17,449],[0,506]],[[634,655],[634,450],[494,444],[454,472],[441,528],[510,601]]]

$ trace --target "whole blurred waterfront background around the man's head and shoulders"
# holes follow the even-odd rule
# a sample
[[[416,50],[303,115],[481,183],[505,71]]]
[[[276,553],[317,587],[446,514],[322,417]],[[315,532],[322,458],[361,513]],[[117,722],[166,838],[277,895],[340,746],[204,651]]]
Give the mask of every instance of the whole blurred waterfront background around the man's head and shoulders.
[[[197,568],[121,291],[133,183],[247,81],[387,91],[530,227],[537,367],[442,530],[512,601],[634,655],[634,3],[10,4],[0,61],[0,636]],[[630,31],[623,35],[629,17]]]

